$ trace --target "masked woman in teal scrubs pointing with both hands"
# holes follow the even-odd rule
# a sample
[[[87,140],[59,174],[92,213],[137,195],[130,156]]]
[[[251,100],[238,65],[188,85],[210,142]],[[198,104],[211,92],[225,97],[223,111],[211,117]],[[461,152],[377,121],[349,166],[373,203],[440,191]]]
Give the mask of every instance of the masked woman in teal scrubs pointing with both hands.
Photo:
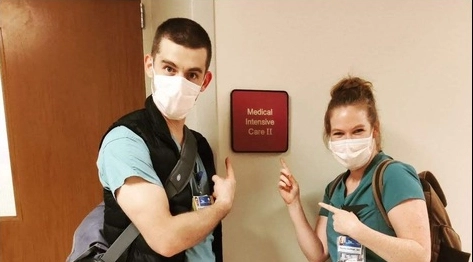
[[[307,221],[299,186],[283,159],[279,193],[308,261],[430,261],[427,208],[414,168],[396,162],[384,172],[383,220],[371,189],[374,169],[389,158],[381,150],[380,122],[372,84],[347,77],[331,90],[324,141],[347,171],[329,198],[325,188],[315,229]]]

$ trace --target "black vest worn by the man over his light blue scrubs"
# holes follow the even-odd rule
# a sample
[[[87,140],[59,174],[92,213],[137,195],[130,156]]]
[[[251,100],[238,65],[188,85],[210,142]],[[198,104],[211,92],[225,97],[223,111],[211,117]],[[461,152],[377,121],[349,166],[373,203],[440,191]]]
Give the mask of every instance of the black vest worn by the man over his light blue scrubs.
[[[144,140],[150,151],[151,162],[153,163],[154,170],[158,174],[161,182],[164,184],[172,169],[179,160],[180,153],[177,145],[171,137],[171,133],[167,127],[164,117],[156,108],[152,97],[149,96],[146,99],[145,108],[129,113],[113,123],[105,135],[117,126],[125,126],[129,128]],[[212,150],[207,140],[200,133],[193,130],[192,133],[197,140],[197,151],[210,178],[215,174]],[[208,179],[208,181],[209,188],[213,192],[213,181],[211,179]],[[192,192],[190,186],[187,185],[181,193],[175,195],[168,201],[172,215],[191,211]],[[104,236],[109,243],[113,243],[113,241],[118,238],[121,232],[125,230],[128,224],[130,224],[130,219],[122,211],[117,201],[113,197],[112,192],[106,189],[104,189],[104,202]],[[212,244],[212,248],[216,256],[216,261],[222,261],[221,223],[219,223],[219,225],[214,229],[213,235],[214,242]],[[128,251],[126,251],[117,261],[184,262],[185,252],[183,251],[169,258],[161,256],[148,246],[142,235],[139,235],[130,245]]]

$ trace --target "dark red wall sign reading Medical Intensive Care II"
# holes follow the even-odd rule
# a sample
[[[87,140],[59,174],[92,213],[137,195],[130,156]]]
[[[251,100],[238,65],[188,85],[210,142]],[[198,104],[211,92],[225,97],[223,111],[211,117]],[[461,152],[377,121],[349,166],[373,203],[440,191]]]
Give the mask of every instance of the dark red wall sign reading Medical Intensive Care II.
[[[234,89],[231,115],[233,151],[287,151],[289,96],[286,91]]]

